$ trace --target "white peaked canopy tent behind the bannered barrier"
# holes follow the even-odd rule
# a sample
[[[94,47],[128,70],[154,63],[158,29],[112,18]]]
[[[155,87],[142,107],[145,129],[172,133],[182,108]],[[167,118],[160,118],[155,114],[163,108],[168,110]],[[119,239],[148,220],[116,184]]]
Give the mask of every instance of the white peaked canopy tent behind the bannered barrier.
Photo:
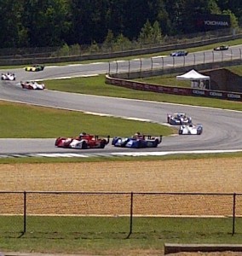
[[[205,81],[209,81],[209,88],[210,88],[210,77],[205,76],[201,73],[198,73],[196,70],[192,69],[187,73],[182,75],[176,76],[177,80],[190,80],[192,82],[193,88],[205,88]]]

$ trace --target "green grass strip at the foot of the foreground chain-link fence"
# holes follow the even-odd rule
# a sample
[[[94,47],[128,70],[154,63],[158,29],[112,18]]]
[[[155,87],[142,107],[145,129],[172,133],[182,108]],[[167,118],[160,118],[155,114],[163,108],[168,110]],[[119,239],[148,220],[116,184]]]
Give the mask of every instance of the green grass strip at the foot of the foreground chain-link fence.
[[[20,217],[0,217],[0,224],[1,250],[20,252],[162,255],[164,242],[239,244],[242,239],[242,218],[236,218],[233,236],[231,218],[134,218],[129,239],[130,218],[125,217],[32,216],[23,236]]]

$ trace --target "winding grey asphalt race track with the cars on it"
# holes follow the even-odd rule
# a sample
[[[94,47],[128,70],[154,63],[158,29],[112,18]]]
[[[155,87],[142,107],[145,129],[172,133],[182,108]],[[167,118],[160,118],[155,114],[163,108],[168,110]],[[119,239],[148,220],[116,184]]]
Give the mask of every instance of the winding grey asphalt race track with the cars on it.
[[[233,49],[238,50],[239,47]],[[198,53],[196,58],[201,60],[204,53]],[[216,53],[217,58],[221,58],[221,53]],[[186,62],[193,63],[187,55]],[[214,58],[214,55],[212,56]],[[231,51],[227,54],[223,53],[222,58],[232,58]],[[173,58],[168,56],[165,59],[164,66],[169,67]],[[158,58],[153,59],[153,65],[159,65]],[[182,59],[183,60],[183,57]],[[131,61],[131,67],[139,68],[139,61]],[[128,69],[127,61],[120,62],[121,71]],[[143,61],[146,63],[146,60]],[[125,152],[184,152],[184,151],[200,151],[200,150],[241,150],[242,151],[242,112],[228,111],[213,108],[199,108],[183,105],[175,105],[160,102],[144,102],[129,99],[119,99],[103,96],[87,96],[80,94],[72,94],[58,92],[54,90],[24,90],[20,87],[21,80],[28,79],[56,79],[65,77],[76,77],[84,75],[92,75],[99,73],[108,73],[112,67],[116,68],[117,63],[98,62],[92,64],[79,64],[68,66],[52,66],[45,67],[43,72],[27,73],[23,68],[12,69],[16,75],[16,81],[0,82],[0,100],[26,102],[41,106],[53,108],[67,108],[72,110],[83,111],[87,113],[109,114],[117,117],[146,119],[159,124],[166,124],[167,113],[185,112],[192,116],[194,124],[202,124],[204,132],[200,136],[173,136],[164,137],[163,142],[158,148],[114,148],[111,143],[104,149],[65,149],[55,148],[55,138],[49,139],[0,139],[0,154],[118,154]],[[119,65],[119,63],[118,63]],[[144,65],[144,64],[142,64]],[[178,64],[177,64],[178,65]],[[150,67],[150,61],[147,60],[147,68]],[[110,70],[111,68],[111,70]],[[119,70],[118,69],[118,70]],[[2,70],[5,73],[7,70]],[[81,129],[81,124],[80,124]],[[87,131],[88,132],[88,131]],[[60,136],[65,136],[61,134]],[[74,135],[73,135],[74,136]]]

